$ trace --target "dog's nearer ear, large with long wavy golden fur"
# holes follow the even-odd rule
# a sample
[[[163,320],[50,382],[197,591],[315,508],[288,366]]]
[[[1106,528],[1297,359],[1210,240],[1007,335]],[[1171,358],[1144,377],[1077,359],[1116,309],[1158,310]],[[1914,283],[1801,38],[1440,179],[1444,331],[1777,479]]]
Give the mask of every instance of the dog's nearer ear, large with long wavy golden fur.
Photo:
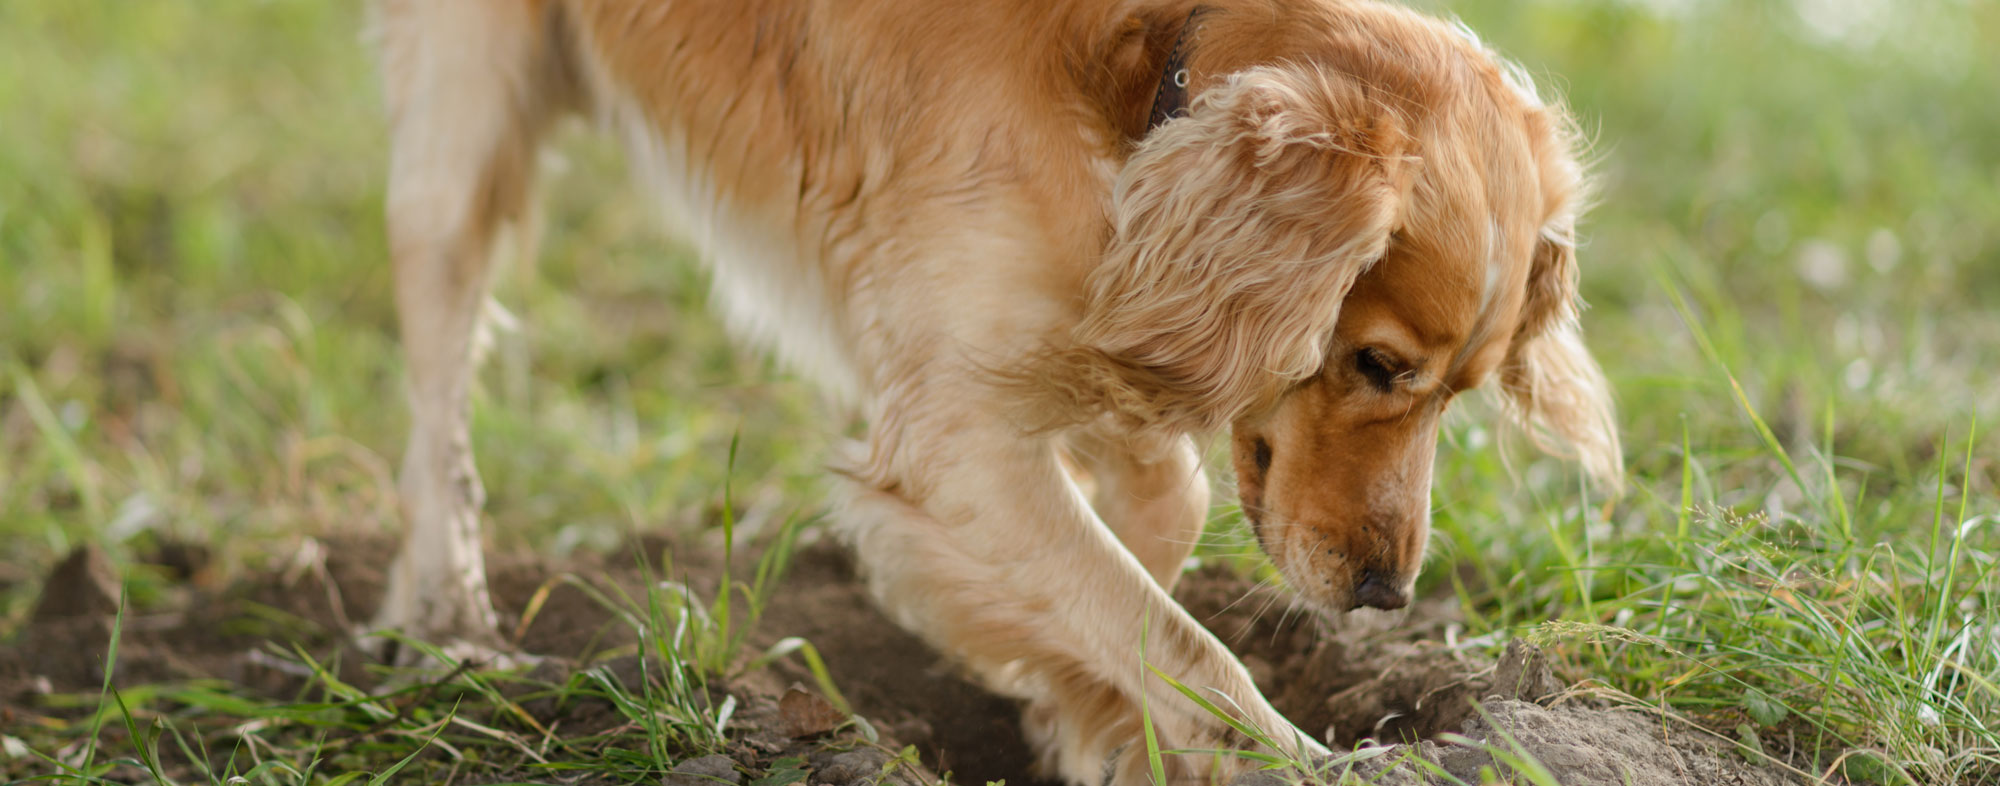
[[[1250,68],[1156,128],[1118,176],[1072,346],[1042,366],[1078,414],[1212,432],[1320,370],[1382,256],[1404,122],[1342,74]]]

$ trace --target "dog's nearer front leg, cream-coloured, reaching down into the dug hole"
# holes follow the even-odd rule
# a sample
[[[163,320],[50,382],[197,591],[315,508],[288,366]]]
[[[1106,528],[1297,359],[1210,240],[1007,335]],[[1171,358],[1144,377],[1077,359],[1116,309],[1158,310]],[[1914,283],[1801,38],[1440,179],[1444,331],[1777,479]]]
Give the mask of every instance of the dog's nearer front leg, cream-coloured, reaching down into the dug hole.
[[[950,412],[878,426],[846,510],[870,588],[906,628],[996,690],[1034,700],[1028,736],[1048,774],[1144,784],[1140,708],[1164,748],[1252,748],[1152,668],[1192,686],[1292,756],[1324,754],[1250,674],[1118,544],[1048,440]],[[924,434],[896,440],[896,434]],[[1142,656],[1144,648],[1144,656]],[[1124,756],[1120,756],[1120,752]],[[1174,780],[1230,776],[1238,758],[1168,756]]]

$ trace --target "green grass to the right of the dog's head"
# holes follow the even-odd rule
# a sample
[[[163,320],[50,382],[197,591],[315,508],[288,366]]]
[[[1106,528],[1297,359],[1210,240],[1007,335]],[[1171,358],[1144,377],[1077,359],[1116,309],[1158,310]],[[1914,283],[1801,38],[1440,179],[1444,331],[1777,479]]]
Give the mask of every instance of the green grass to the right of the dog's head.
[[[1604,516],[1454,450],[1440,562],[1474,566],[1474,632],[1814,774],[2000,782],[2000,8],[1896,6],[1874,42],[1694,8],[1464,8],[1598,128],[1586,328],[1634,490]]]

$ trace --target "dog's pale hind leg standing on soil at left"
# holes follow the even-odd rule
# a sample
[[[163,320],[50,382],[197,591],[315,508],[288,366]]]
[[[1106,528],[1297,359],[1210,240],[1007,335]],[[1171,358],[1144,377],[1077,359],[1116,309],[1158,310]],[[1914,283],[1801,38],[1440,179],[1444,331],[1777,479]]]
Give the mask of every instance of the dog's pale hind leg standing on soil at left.
[[[550,48],[526,2],[390,0],[380,12],[410,442],[404,544],[374,626],[494,650],[470,388],[492,256],[526,214],[534,150],[554,114]]]

